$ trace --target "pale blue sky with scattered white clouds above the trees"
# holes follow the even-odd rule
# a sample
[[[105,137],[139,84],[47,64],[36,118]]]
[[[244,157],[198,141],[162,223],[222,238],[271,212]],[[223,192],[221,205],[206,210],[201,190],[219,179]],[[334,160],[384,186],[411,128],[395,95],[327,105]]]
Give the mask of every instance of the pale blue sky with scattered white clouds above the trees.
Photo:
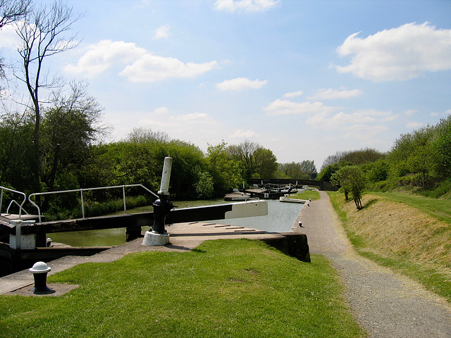
[[[68,4],[80,44],[47,66],[89,82],[111,140],[133,127],[204,150],[249,139],[319,170],[451,114],[448,0]]]

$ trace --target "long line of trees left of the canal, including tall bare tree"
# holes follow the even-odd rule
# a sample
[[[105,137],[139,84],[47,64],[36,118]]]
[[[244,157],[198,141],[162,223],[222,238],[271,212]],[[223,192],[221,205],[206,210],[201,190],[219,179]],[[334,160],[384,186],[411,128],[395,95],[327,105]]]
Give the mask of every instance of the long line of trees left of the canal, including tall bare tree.
[[[316,175],[313,162],[280,165],[270,149],[250,141],[209,145],[204,153],[138,127],[121,141],[103,142],[111,128],[87,83],[48,68],[52,56],[77,46],[71,26],[80,15],[60,0],[0,0],[0,15],[0,29],[12,25],[18,37],[16,64],[0,58],[1,185],[26,193],[136,183],[157,190],[165,156],[174,159],[171,192],[178,198],[222,196],[249,178]]]

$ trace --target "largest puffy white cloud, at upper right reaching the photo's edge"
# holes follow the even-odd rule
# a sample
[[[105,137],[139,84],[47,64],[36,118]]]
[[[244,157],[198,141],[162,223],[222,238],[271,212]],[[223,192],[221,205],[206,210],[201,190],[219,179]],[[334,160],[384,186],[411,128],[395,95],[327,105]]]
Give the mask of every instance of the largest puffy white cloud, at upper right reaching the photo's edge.
[[[340,56],[353,55],[349,65],[335,67],[340,73],[381,82],[451,70],[451,30],[408,23],[364,39],[357,35],[347,37],[337,49]]]

